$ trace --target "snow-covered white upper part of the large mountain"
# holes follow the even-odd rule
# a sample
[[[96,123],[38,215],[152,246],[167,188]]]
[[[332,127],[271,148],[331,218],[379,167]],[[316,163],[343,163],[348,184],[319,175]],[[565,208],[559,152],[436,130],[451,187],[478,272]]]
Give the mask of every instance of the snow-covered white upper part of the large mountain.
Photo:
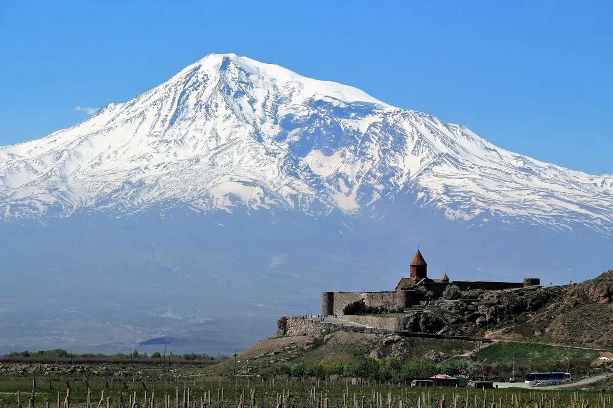
[[[72,128],[0,147],[0,213],[376,211],[410,192],[447,218],[613,231],[613,176],[500,149],[462,125],[277,65],[211,54]]]

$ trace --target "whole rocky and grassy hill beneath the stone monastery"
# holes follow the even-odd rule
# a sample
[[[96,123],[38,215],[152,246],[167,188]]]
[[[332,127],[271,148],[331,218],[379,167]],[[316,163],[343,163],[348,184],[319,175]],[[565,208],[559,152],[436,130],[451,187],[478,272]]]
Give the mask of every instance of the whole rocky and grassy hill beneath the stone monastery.
[[[359,332],[311,324],[301,318],[281,319],[280,330],[273,338],[238,355],[238,373],[275,373],[280,365],[333,366],[386,357],[469,366],[466,361],[487,358],[492,363],[509,364],[514,358],[521,365],[527,366],[530,361],[531,365],[544,367],[560,365],[568,357],[574,369],[581,371],[588,369],[601,350],[613,348],[613,270],[567,286],[533,286],[471,295],[478,297],[476,302],[449,300],[421,313],[428,314],[427,319],[432,321],[444,322],[438,330],[439,335],[444,335],[441,338],[394,336],[376,328]],[[471,316],[479,313],[482,318],[471,322]],[[393,314],[398,315],[402,313]],[[451,338],[458,335],[466,338]],[[233,369],[231,364],[222,363],[212,369],[226,373]]]

